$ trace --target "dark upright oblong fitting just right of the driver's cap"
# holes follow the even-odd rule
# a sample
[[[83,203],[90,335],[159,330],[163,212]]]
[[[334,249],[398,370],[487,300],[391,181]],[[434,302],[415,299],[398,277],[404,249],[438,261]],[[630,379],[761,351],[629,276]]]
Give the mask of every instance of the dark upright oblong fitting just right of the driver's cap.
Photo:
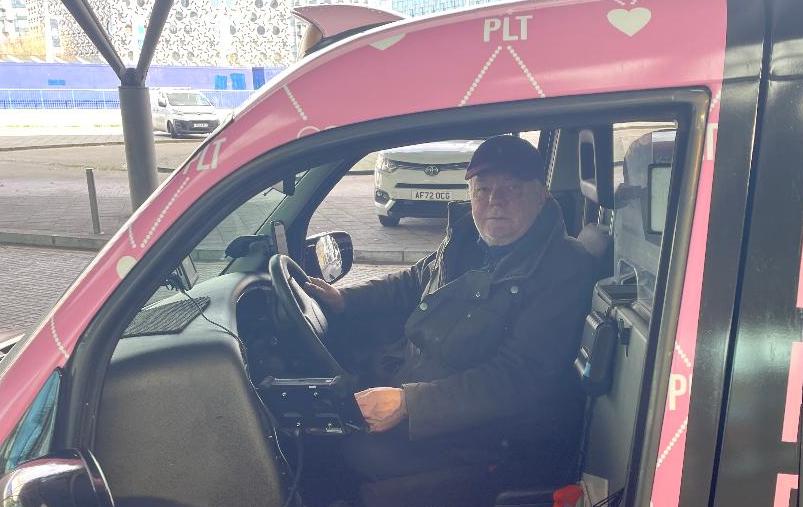
[[[586,199],[613,209],[613,127],[582,129],[578,136],[580,191]]]

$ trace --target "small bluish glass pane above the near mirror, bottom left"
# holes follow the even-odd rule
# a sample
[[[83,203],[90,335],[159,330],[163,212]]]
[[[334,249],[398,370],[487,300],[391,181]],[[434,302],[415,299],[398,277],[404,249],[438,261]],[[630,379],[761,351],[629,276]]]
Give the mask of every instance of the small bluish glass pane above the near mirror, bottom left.
[[[61,374],[53,372],[22,419],[0,446],[2,472],[13,470],[23,461],[28,461],[50,452],[53,425],[56,419]]]

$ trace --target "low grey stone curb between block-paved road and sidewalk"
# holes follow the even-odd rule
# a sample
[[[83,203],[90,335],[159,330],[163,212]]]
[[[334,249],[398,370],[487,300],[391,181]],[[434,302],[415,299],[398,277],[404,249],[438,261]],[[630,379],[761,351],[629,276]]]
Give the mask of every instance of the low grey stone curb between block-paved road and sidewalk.
[[[45,231],[0,229],[0,245],[63,248],[97,252],[111,238],[110,235],[63,235]],[[432,252],[429,250],[360,250],[354,249],[355,264],[413,264]],[[222,250],[196,250],[196,260],[217,261],[223,258]]]

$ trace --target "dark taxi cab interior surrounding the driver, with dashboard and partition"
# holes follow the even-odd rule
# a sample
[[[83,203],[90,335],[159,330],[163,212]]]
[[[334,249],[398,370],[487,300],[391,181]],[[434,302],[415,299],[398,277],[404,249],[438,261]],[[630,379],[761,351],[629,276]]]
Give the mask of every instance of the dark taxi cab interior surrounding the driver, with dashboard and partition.
[[[567,337],[578,345],[577,359],[567,367],[576,369],[588,393],[587,429],[577,435],[582,462],[563,466],[560,480],[550,484],[525,480],[500,489],[494,477],[485,480],[493,475],[485,469],[482,480],[476,471],[456,471],[372,487],[450,491],[443,505],[482,498],[485,505],[549,506],[553,490],[582,479],[586,505],[618,505],[632,483],[644,440],[639,421],[654,391],[643,386],[650,385],[649,344],[658,333],[672,247],[662,242],[662,231],[665,224],[674,227],[668,210],[677,208],[681,183],[688,183],[670,177],[676,172],[676,136],[700,135],[689,128],[692,110],[670,105],[652,116],[643,108],[546,114],[537,124],[526,110],[509,105],[479,124],[466,117],[452,125],[417,118],[397,122],[393,130],[360,126],[364,130],[343,133],[347,141],[339,145],[337,132],[324,132],[311,136],[320,139],[314,150],[294,148],[292,163],[268,154],[241,170],[246,179],[224,180],[216,191],[220,199],[227,196],[226,203],[199,202],[180,219],[183,229],[154,246],[163,255],[146,268],[157,276],[129,277],[127,302],[139,303],[102,310],[115,312],[116,322],[106,330],[116,329],[120,338],[106,340],[108,368],[91,369],[97,411],[89,433],[116,503],[314,507],[340,497],[348,471],[321,450],[362,430],[351,396],[358,380],[348,371],[349,359],[327,339],[338,331],[300,283],[307,275],[333,282],[346,275],[353,247],[343,232],[307,238],[310,218],[348,169],[372,151],[540,130],[547,183],[569,233],[593,254],[599,280],[589,294],[582,336]],[[643,123],[645,116],[651,123]],[[628,140],[623,132],[630,132]],[[271,162],[276,170],[266,171]],[[277,179],[284,192],[275,190]],[[255,195],[257,188],[267,190]],[[264,220],[254,234],[228,245],[219,275],[191,286],[188,270],[174,269],[190,245],[197,246],[238,207],[266,197],[273,200]],[[165,284],[176,289],[168,297]],[[370,325],[368,320],[362,324]],[[79,362],[73,371],[81,371]],[[503,474],[505,467],[496,470]],[[465,497],[454,496],[458,491]],[[363,489],[358,496],[370,505],[370,494]]]

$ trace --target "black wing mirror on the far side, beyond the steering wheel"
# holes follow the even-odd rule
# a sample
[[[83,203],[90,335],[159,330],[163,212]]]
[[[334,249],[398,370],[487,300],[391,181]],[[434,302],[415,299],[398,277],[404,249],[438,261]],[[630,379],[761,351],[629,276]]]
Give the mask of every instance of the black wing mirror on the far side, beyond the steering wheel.
[[[307,238],[304,270],[310,276],[336,282],[351,271],[354,247],[347,232],[327,232]]]

